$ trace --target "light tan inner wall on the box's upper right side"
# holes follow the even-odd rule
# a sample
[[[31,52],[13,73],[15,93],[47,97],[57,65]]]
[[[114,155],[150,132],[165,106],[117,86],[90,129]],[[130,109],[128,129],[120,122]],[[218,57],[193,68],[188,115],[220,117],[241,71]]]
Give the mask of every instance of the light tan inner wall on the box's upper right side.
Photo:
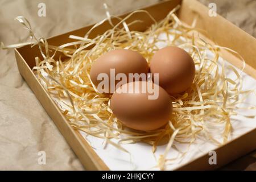
[[[178,15],[187,24],[192,24],[196,18],[196,27],[206,31],[202,31],[202,34],[218,46],[237,51],[248,65],[256,69],[256,39],[253,36],[220,15],[210,17],[209,9],[195,0],[183,0]]]

